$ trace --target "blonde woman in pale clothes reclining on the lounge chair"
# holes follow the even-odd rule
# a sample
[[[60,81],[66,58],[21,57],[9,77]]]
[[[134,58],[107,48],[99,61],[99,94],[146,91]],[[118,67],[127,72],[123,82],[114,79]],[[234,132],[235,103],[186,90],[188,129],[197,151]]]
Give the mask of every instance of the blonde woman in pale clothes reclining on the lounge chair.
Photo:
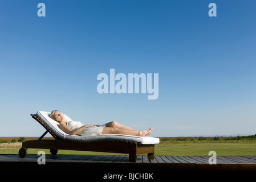
[[[67,121],[64,114],[59,110],[51,112],[50,118],[59,122],[60,129],[70,135],[94,136],[104,134],[121,134],[146,137],[151,134],[153,127],[149,130],[135,130],[122,125],[116,121],[105,123],[104,125],[83,125],[78,121]]]

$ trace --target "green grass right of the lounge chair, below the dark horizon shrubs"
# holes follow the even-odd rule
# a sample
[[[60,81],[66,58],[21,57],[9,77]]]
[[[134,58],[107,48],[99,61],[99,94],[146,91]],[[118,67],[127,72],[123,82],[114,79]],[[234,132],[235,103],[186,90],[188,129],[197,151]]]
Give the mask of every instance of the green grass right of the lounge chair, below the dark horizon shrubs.
[[[256,140],[164,140],[156,155],[256,155]]]

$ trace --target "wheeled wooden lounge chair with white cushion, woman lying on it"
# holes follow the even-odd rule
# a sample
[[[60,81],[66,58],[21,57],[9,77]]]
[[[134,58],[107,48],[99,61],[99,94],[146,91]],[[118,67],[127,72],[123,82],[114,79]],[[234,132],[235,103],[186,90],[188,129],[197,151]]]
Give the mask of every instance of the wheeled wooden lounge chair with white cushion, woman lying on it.
[[[36,114],[31,114],[31,116],[46,129],[46,132],[38,140],[29,140],[22,143],[22,148],[19,150],[21,158],[25,158],[27,155],[27,148],[45,148],[50,149],[52,155],[56,155],[58,150],[129,154],[129,162],[136,162],[137,154],[148,154],[148,159],[154,159],[155,144],[159,143],[159,138],[155,137],[114,134],[92,137],[69,135],[59,128],[58,122],[49,117],[50,112],[38,111]],[[67,115],[65,117],[67,121],[71,121],[70,117]],[[50,133],[54,139],[42,139],[47,133]]]

